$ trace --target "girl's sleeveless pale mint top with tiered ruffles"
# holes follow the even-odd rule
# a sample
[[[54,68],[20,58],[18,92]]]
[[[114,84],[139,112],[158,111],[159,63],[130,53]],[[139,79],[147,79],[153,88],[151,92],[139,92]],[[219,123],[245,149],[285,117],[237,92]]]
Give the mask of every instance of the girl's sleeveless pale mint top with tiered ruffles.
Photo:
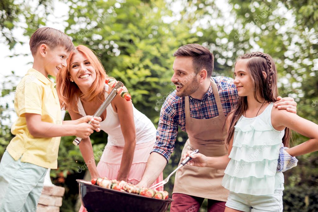
[[[272,108],[273,103],[270,103],[259,116],[241,116],[235,125],[231,160],[222,180],[226,189],[235,193],[268,195],[284,182],[283,173],[276,169],[285,130],[273,128]]]

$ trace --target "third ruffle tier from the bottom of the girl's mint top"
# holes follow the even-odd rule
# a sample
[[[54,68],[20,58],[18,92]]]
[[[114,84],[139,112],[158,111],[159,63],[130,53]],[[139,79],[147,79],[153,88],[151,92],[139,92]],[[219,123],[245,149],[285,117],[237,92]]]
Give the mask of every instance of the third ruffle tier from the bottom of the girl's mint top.
[[[281,141],[280,141],[281,142]],[[278,160],[280,149],[280,144],[275,145],[263,145],[263,146],[256,146],[250,147],[241,145],[238,147],[237,145],[233,145],[229,158],[240,161],[243,160],[244,162],[252,162],[252,161],[262,161],[264,159],[267,160]]]

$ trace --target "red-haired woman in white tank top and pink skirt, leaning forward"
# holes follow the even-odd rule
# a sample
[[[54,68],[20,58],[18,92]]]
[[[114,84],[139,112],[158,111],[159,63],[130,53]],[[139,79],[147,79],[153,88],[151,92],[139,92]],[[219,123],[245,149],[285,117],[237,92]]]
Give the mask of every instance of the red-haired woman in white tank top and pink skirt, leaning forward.
[[[76,52],[71,53],[67,60],[67,68],[57,76],[61,106],[68,110],[72,119],[95,113],[111,91],[105,84],[107,78],[93,51],[83,45],[77,46]],[[135,109],[131,101],[127,102],[119,95],[100,117],[100,129],[108,134],[108,139],[97,167],[90,138],[79,144],[91,177],[106,176],[137,184],[156,141],[155,126]],[[154,184],[160,181],[162,173]]]

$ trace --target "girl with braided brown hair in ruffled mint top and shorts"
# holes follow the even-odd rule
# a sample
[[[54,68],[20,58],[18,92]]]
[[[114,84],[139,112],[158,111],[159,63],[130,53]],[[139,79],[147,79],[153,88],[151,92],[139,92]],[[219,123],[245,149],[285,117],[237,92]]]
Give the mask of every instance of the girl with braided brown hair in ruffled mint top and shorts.
[[[278,96],[277,70],[268,54],[240,56],[234,76],[239,101],[226,121],[229,155],[217,158],[195,154],[190,165],[226,167],[222,181],[230,190],[226,212],[283,211],[284,176],[276,171],[280,146],[283,143],[288,147],[292,129],[310,139],[287,149],[287,153],[299,156],[318,150],[318,125],[273,107]]]

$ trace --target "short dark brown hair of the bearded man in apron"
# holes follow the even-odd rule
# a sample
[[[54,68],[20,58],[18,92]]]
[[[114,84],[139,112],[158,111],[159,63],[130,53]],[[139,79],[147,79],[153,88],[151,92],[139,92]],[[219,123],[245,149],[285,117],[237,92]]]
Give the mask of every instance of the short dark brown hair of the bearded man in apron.
[[[214,68],[214,56],[210,50],[196,43],[181,46],[173,56],[189,56],[192,57],[195,73],[199,73],[202,69],[207,71],[208,77],[211,77]]]

